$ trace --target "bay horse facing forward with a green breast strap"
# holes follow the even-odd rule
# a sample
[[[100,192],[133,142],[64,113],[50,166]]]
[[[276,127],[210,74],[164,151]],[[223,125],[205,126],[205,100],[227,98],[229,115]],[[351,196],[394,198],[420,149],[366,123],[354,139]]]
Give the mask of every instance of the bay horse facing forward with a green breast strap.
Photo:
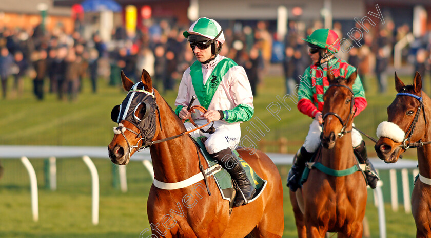
[[[314,163],[307,163],[308,168],[318,169],[309,170],[307,182],[296,194],[290,190],[301,238],[325,237],[326,232],[362,237],[367,190],[350,134],[355,113],[352,85],[357,73],[344,79],[335,78],[332,72],[327,72],[329,88],[323,96],[322,148]]]

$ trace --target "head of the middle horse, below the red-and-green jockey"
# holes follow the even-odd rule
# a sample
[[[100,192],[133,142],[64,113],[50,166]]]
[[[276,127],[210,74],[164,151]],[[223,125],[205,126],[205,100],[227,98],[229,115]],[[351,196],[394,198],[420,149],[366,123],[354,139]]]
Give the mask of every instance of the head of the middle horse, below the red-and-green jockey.
[[[330,71],[327,71],[329,88],[323,95],[323,130],[320,135],[322,145],[332,149],[337,138],[351,130],[351,123],[354,116],[355,99],[352,85],[355,82],[357,73],[353,72],[349,78],[336,78]]]

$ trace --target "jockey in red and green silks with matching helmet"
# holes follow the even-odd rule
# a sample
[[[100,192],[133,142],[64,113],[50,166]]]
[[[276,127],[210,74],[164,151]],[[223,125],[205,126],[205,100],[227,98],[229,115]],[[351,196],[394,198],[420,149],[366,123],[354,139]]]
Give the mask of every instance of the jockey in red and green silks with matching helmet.
[[[310,125],[304,144],[295,155],[292,168],[289,171],[287,186],[292,191],[296,191],[301,186],[299,182],[305,168],[305,162],[311,159],[320,145],[323,94],[328,88],[327,85],[329,85],[326,77],[327,71],[332,72],[336,70],[335,76],[342,76],[344,78],[348,78],[356,71],[355,67],[351,66],[346,61],[336,58],[335,53],[340,49],[340,45],[338,35],[335,31],[318,29],[303,40],[308,42],[308,55],[313,62],[311,66],[305,70],[302,77],[300,76],[301,83],[298,90],[299,101],[297,106],[300,112],[314,118],[314,120]],[[365,93],[359,74],[353,84],[353,92],[356,106],[356,114],[354,116],[358,116],[367,106],[367,100],[365,99]],[[361,164],[366,165],[364,172],[367,183],[371,188],[376,188],[379,176],[368,160],[365,142],[356,129],[352,130],[351,137],[354,154],[358,157]]]

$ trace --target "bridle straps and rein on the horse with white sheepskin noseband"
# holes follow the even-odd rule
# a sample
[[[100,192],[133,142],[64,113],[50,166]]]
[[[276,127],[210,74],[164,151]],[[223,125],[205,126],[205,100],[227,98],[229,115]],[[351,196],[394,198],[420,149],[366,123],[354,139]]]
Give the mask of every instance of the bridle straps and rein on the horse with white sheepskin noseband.
[[[422,110],[422,114],[423,114],[423,119],[425,121],[425,131],[426,131],[426,124],[427,123],[426,123],[426,117],[425,117],[425,110],[422,109],[422,107],[424,107],[423,97],[419,97],[419,96],[416,96],[416,95],[411,94],[411,93],[398,93],[396,96],[409,96],[409,97],[413,97],[419,101],[419,106],[416,110],[415,117],[413,118],[412,124],[410,124],[410,126],[408,127],[407,132],[405,134],[406,138],[404,139],[403,144],[400,145],[399,147],[401,147],[403,149],[409,149],[409,148],[418,148],[418,147],[421,147],[423,145],[431,144],[431,141],[422,142],[421,140],[414,142],[414,143],[410,142],[410,137],[412,137],[413,133],[415,132],[416,123],[418,122],[419,114],[420,114],[421,110]],[[422,96],[422,92],[421,92],[421,96]]]

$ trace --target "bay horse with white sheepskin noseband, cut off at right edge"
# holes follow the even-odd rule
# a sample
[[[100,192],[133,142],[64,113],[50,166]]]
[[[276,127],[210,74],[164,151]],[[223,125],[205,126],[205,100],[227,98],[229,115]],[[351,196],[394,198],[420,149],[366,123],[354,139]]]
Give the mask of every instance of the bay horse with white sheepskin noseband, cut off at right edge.
[[[417,148],[419,180],[412,192],[412,214],[416,237],[431,237],[431,101],[422,91],[418,72],[413,85],[404,85],[395,73],[394,101],[387,107],[387,121],[377,127],[377,156],[395,163],[408,148]]]

